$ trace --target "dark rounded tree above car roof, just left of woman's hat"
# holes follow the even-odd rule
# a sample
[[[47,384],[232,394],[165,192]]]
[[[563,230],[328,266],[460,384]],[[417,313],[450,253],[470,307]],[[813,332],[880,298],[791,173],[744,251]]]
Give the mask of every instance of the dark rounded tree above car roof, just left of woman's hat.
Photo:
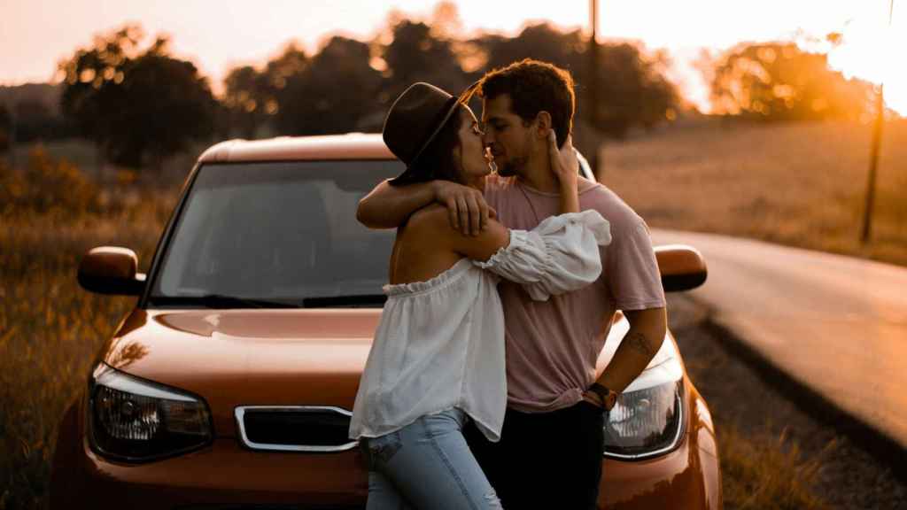
[[[306,69],[278,93],[278,131],[291,135],[354,131],[378,107],[381,74],[370,65],[368,44],[332,37]]]

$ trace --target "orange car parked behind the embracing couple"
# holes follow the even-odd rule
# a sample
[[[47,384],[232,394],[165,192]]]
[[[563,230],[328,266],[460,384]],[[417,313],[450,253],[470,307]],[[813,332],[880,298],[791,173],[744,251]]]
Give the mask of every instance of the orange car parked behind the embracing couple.
[[[139,299],[63,417],[52,507],[364,507],[347,427],[394,232],[356,204],[401,166],[379,135],[222,142],[147,276],[132,250],[89,251],[85,289]],[[657,255],[668,291],[706,278],[696,250]],[[600,368],[628,329],[615,321]],[[600,508],[721,507],[715,430],[669,332],[605,436]]]

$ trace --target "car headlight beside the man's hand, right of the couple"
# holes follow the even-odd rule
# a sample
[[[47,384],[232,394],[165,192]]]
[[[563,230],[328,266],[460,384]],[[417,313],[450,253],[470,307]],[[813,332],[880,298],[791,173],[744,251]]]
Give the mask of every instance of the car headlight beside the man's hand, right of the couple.
[[[625,391],[608,413],[605,456],[639,460],[678,446],[683,429],[683,380]]]

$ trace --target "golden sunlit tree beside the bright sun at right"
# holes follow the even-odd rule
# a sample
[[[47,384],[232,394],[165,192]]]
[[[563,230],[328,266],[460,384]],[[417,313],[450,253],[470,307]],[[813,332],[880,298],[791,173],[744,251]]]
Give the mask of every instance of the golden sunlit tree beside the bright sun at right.
[[[828,67],[825,54],[793,43],[740,44],[718,59],[711,83],[717,113],[767,121],[858,120],[873,87]]]

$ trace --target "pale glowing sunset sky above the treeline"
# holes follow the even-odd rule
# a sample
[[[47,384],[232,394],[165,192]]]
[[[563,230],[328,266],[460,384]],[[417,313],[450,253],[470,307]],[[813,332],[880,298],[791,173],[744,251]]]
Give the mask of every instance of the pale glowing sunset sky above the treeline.
[[[463,34],[514,35],[531,22],[585,29],[588,0],[456,2]],[[889,0],[599,0],[601,41],[632,39],[649,49],[665,48],[674,59],[670,76],[694,103],[707,108],[705,83],[693,67],[703,48],[726,49],[741,41],[821,39],[844,34],[832,50],[832,65],[851,76],[885,82],[890,107],[907,114],[907,65],[895,48],[907,48],[907,5]],[[126,22],[149,34],[167,33],[175,54],[194,61],[216,88],[236,64],[261,64],[290,40],[309,53],[332,34],[370,39],[391,9],[427,18],[425,0],[0,0],[0,83],[46,82],[55,63],[93,34]],[[799,35],[798,35],[799,34]],[[811,49],[828,50],[823,44]]]

